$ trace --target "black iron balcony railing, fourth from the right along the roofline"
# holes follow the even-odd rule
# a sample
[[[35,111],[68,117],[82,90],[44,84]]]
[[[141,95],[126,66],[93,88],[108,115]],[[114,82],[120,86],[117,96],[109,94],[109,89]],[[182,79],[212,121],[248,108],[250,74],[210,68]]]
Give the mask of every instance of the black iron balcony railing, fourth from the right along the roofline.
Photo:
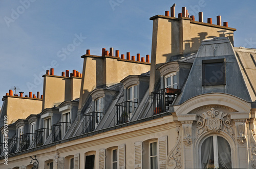
[[[69,130],[71,123],[69,122],[59,122],[53,126],[53,134],[52,134],[52,142],[57,142],[62,139],[62,137],[66,134]]]

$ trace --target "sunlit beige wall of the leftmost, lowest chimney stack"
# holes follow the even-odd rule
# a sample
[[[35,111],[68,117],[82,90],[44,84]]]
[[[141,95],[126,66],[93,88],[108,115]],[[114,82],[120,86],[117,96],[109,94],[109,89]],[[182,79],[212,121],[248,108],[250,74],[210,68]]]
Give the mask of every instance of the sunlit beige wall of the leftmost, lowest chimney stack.
[[[18,119],[26,119],[31,114],[39,114],[42,110],[42,99],[7,96],[8,124]]]

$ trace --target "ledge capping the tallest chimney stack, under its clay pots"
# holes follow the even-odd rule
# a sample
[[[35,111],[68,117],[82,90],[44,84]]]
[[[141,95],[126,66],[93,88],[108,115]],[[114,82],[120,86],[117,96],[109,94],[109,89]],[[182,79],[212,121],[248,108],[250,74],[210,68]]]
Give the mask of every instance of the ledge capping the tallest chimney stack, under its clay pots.
[[[210,27],[217,27],[220,29],[224,29],[224,30],[229,30],[229,31],[237,31],[237,29],[232,28],[232,27],[226,27],[226,26],[221,26],[221,25],[217,25],[217,24],[210,24],[210,23],[205,23],[205,22],[199,22],[199,21],[195,21],[192,20],[192,18],[188,18],[188,17],[171,17],[171,16],[164,16],[164,15],[156,15],[150,18],[150,20],[154,20],[156,18],[162,18],[162,19],[173,19],[173,20],[190,20],[190,23],[194,23],[194,24],[201,24],[201,25],[205,25],[205,26],[210,26]]]

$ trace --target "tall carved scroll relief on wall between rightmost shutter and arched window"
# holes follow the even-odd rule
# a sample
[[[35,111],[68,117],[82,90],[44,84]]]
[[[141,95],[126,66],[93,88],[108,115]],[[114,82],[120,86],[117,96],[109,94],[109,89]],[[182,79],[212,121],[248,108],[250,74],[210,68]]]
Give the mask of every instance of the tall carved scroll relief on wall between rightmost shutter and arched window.
[[[168,169],[181,168],[181,132],[180,127],[176,127],[176,131],[178,132],[178,139],[174,146],[174,148],[170,151],[167,158],[167,167]]]

